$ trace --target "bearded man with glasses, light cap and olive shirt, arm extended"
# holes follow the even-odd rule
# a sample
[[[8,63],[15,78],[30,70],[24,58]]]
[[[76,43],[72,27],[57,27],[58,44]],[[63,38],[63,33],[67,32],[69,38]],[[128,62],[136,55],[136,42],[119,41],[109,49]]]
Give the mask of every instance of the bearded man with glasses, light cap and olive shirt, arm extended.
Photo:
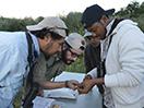
[[[60,74],[64,70],[65,64],[74,62],[84,52],[85,46],[84,37],[77,33],[71,33],[64,39],[64,46],[60,57],[53,56],[49,60],[41,55],[41,58],[38,60],[39,62],[34,69],[34,81],[45,89],[60,87],[75,89],[75,85],[79,83],[74,80],[63,82],[51,82],[50,80]]]

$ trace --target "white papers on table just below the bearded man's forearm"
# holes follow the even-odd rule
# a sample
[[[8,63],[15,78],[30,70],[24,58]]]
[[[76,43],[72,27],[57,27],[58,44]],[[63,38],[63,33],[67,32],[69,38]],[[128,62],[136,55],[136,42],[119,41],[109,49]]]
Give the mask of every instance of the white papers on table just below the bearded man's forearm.
[[[70,88],[57,88],[44,91],[44,97],[76,99],[77,91]]]

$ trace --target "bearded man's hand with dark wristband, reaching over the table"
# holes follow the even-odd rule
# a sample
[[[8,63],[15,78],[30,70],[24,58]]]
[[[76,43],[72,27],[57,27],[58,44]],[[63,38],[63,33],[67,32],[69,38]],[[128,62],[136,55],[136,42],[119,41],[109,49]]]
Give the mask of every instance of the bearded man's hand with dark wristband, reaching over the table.
[[[75,80],[65,81],[65,87],[69,87],[69,88],[74,89],[74,91],[77,88],[79,84],[80,83]]]

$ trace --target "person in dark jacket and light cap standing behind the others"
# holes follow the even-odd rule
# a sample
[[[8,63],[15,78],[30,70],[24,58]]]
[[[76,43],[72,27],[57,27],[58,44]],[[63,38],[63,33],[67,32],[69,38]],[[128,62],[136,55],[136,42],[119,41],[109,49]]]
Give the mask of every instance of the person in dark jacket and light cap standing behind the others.
[[[84,51],[84,64],[87,73],[98,67],[100,62],[100,39],[87,31],[85,31],[84,38],[87,44]]]

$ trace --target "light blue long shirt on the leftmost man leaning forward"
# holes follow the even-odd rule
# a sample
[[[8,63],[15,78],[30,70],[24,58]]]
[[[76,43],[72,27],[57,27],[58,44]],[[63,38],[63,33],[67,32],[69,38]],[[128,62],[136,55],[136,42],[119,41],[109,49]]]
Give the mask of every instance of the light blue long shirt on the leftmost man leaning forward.
[[[32,36],[39,53],[37,38]],[[0,108],[8,108],[28,73],[28,47],[24,32],[0,32]]]

